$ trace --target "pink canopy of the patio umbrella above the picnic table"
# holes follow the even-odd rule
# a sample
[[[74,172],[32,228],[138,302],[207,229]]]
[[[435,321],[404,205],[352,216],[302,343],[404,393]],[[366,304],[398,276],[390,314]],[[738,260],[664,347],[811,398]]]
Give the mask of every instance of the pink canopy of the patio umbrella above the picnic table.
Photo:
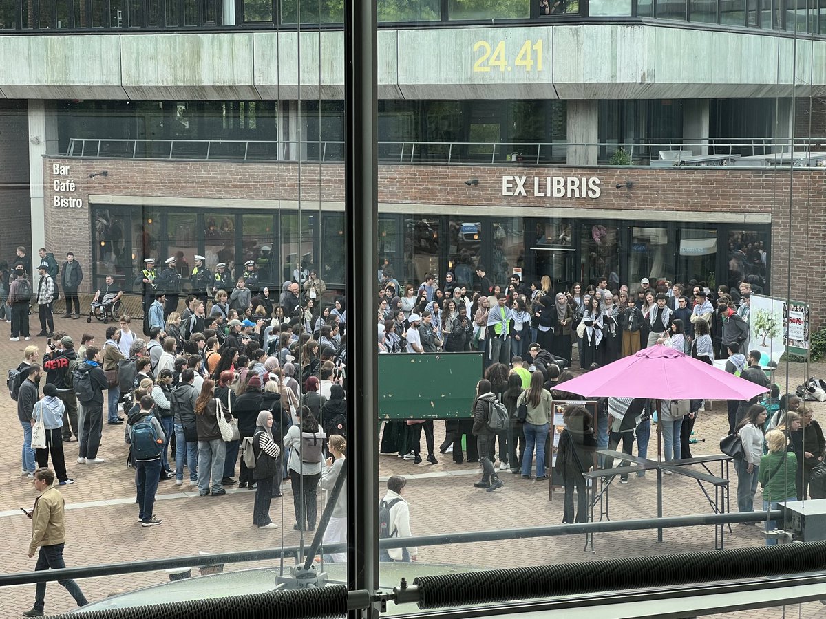
[[[752,399],[766,393],[739,376],[657,344],[559,385],[585,398]]]

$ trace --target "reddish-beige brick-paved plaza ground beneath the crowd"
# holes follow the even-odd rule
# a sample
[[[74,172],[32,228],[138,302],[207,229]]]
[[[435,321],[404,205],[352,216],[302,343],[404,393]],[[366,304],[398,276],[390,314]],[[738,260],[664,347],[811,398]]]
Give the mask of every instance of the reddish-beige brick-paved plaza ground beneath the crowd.
[[[36,317],[32,317],[36,322]],[[93,333],[103,342],[103,324],[86,324],[85,320],[58,319],[57,328],[69,331],[75,342],[84,332]],[[140,328],[140,321],[133,322]],[[45,338],[32,338],[31,343],[45,350]],[[24,342],[0,341],[3,367],[17,366],[21,361]],[[804,367],[790,367],[790,388],[800,384]],[[786,368],[781,366],[776,382],[783,388]],[[826,365],[813,367],[814,376],[826,376]],[[814,403],[815,417],[826,418],[826,406]],[[0,399],[0,531],[2,547],[0,572],[17,573],[34,568],[35,559],[27,558],[30,521],[20,512],[36,498],[30,480],[21,476],[21,428],[17,421],[16,403],[6,395]],[[715,403],[702,413],[696,426],[699,442],[692,448],[695,456],[719,451],[719,438],[726,427],[725,405]],[[437,445],[444,435],[444,423],[436,423]],[[422,446],[424,447],[424,445]],[[282,499],[273,499],[271,514],[278,530],[262,531],[253,526],[254,491],[230,489],[222,497],[200,498],[185,482],[175,486],[162,482],[158,490],[156,513],[163,519],[159,527],[142,528],[136,521],[135,484],[133,470],[126,468],[126,446],[122,426],[103,427],[101,465],[78,465],[77,443],[64,445],[69,477],[75,484],[61,486],[67,503],[65,560],[69,566],[120,563],[150,558],[194,555],[200,550],[229,552],[256,550],[273,546],[295,546],[299,534],[292,528],[292,492],[289,484]],[[652,432],[649,457],[656,457],[657,441]],[[380,456],[380,475],[406,475],[409,483],[406,498],[411,503],[411,527],[415,535],[481,531],[491,528],[536,527],[562,521],[562,497],[548,501],[547,483],[521,480],[519,475],[504,474],[505,487],[494,494],[475,489],[477,465],[455,465],[450,455],[439,456],[439,464],[414,465],[397,456]],[[718,465],[714,465],[717,467]],[[731,471],[733,476],[733,467]],[[657,475],[649,472],[644,478],[632,475],[628,485],[614,484],[610,489],[610,518],[625,520],[654,517],[657,513]],[[733,482],[731,503],[736,503]],[[383,484],[382,484],[383,488]],[[197,489],[196,489],[197,490]],[[712,491],[713,492],[713,491]],[[382,493],[383,494],[383,493]],[[760,508],[760,493],[757,508]],[[694,480],[680,475],[664,476],[664,513],[667,516],[709,513],[710,506]],[[726,546],[738,548],[763,543],[760,527],[735,525],[725,537]],[[427,563],[475,565],[485,568],[517,565],[542,565],[554,562],[607,559],[620,556],[647,555],[686,550],[714,548],[713,527],[672,529],[664,532],[664,541],[657,543],[656,531],[599,534],[595,537],[595,552],[584,551],[584,536],[540,538],[524,541],[501,541],[457,546],[432,546],[420,549],[420,561]],[[226,569],[246,569],[254,565],[227,565]],[[164,572],[112,576],[80,581],[90,601],[107,595],[163,583]],[[228,595],[232,591],[226,592]],[[20,617],[31,607],[34,586],[8,588],[2,591],[0,619]],[[150,600],[147,600],[150,602]],[[64,612],[72,607],[72,599],[58,584],[49,584],[46,593],[47,613]],[[411,612],[415,607],[411,606]],[[798,615],[798,607],[787,609]],[[781,617],[781,609],[743,612],[727,617]],[[824,606],[812,602],[800,607],[800,617],[823,617]]]

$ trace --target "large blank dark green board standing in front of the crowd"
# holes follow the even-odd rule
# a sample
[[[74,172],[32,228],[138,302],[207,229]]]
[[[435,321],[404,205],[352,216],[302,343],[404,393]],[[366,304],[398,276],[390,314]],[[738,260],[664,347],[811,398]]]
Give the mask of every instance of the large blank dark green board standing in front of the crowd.
[[[478,352],[379,355],[378,418],[470,417],[481,378]]]

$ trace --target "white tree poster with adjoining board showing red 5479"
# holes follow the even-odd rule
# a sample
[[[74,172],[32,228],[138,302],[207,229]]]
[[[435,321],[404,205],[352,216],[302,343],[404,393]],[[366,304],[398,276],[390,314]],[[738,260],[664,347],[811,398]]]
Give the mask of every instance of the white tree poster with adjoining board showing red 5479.
[[[776,362],[786,352],[786,346],[795,355],[808,355],[808,304],[753,294],[749,300],[748,350],[758,350]]]

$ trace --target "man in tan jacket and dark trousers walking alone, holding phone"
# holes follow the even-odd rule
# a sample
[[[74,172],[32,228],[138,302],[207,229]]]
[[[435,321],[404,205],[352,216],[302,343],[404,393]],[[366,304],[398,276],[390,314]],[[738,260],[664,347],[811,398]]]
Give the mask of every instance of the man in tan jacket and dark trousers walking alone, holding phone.
[[[63,569],[66,564],[63,560],[63,548],[66,542],[66,528],[64,527],[64,499],[58,490],[52,487],[55,483],[55,473],[51,469],[35,471],[35,488],[40,496],[35,499],[35,507],[26,512],[31,518],[31,543],[29,544],[29,558],[37,555],[35,571],[42,569]],[[83,592],[74,580],[58,580],[71,593],[78,606],[88,604]],[[38,583],[35,592],[35,605],[23,613],[23,617],[42,617],[46,597],[46,584]]]

